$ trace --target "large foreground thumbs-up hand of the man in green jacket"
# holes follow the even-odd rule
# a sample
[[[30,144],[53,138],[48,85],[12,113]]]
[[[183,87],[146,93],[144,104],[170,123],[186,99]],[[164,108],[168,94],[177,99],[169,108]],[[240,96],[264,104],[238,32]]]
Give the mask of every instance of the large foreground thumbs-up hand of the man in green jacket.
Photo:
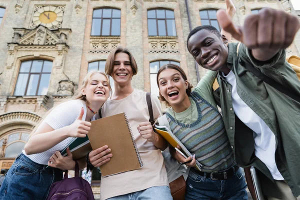
[[[262,8],[258,14],[247,16],[244,26],[235,26],[225,10],[216,14],[221,28],[245,44],[254,58],[261,61],[288,47],[300,28],[298,18],[283,10]]]

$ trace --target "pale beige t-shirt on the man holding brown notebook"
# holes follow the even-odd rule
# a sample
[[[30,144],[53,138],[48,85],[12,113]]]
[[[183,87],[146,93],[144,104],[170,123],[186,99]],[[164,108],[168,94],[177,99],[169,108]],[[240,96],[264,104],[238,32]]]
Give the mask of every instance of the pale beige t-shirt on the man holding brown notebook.
[[[159,115],[162,115],[161,105],[154,94],[151,94],[151,102],[155,120]],[[120,112],[125,112],[128,118],[138,152],[143,162],[143,167],[141,169],[107,177],[101,176],[101,200],[140,191],[152,186],[168,186],[166,170],[160,149],[157,149],[152,142],[142,138],[137,131],[139,123],[149,121],[146,92],[134,89],[131,94],[123,99],[107,99],[102,106],[101,114],[102,117],[105,117]]]

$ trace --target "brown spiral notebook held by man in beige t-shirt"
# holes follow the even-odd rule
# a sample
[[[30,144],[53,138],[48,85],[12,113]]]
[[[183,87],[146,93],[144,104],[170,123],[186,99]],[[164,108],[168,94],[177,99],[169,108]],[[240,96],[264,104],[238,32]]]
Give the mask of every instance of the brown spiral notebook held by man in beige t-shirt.
[[[91,121],[88,138],[93,150],[108,145],[112,157],[100,166],[103,176],[142,168],[142,161],[124,112]]]

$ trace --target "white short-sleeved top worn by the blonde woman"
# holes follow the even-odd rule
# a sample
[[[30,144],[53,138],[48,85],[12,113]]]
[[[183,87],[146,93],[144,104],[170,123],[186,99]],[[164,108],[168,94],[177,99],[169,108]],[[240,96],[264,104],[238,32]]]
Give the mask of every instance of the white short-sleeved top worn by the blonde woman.
[[[76,99],[76,100],[65,101],[57,105],[56,107],[54,107],[53,110],[50,111],[50,113],[44,118],[42,123],[47,123],[54,130],[70,125],[79,116],[81,107],[83,107],[84,109],[84,114],[82,118],[85,119],[86,116],[85,102],[83,100]],[[73,138],[74,137],[68,137],[62,140],[61,142],[59,142],[58,144],[56,144],[55,146],[53,146],[52,148],[41,153],[27,155],[25,153],[25,150],[22,150],[22,153],[36,163],[48,164],[51,155],[56,150],[58,151],[63,150],[71,142]]]

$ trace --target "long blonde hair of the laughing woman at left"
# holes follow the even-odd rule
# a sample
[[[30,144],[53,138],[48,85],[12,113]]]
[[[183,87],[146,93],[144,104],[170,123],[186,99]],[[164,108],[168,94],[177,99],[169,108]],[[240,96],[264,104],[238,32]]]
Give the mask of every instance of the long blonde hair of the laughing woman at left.
[[[111,87],[110,87],[110,82],[109,82],[109,77],[106,75],[106,73],[99,71],[99,70],[91,70],[88,71],[87,74],[85,75],[85,77],[83,78],[80,86],[78,87],[78,89],[76,90],[76,92],[74,93],[73,96],[71,97],[67,97],[65,100],[61,101],[60,103],[58,103],[57,105],[55,105],[54,107],[52,107],[51,109],[49,109],[37,122],[37,124],[35,126],[32,127],[32,131],[29,135],[29,137],[31,137],[32,135],[34,135],[36,129],[38,128],[38,126],[42,123],[42,121],[45,119],[45,117],[55,108],[57,107],[59,104],[69,101],[69,100],[75,100],[75,99],[80,99],[80,100],[84,100],[86,102],[86,104],[89,104],[88,100],[86,99],[86,96],[83,95],[82,89],[84,89],[87,85],[87,83],[90,81],[90,77],[95,74],[95,73],[100,73],[102,75],[104,75],[107,79],[107,84],[108,84],[108,88],[109,88],[109,93],[112,92]]]

